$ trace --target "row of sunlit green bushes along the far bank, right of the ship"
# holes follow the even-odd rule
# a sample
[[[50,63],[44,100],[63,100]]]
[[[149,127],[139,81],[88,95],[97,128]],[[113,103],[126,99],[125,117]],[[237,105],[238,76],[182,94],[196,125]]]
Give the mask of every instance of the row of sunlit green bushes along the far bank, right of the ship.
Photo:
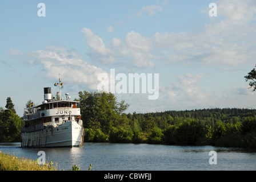
[[[148,118],[154,118],[152,115],[154,114],[141,114],[139,118],[148,122]],[[256,148],[256,117],[243,117],[234,123],[206,119],[212,122],[210,124],[202,123],[197,119],[181,118],[182,122],[169,124],[163,129],[159,125],[154,126],[154,119],[151,120],[151,129],[148,130],[133,130],[130,129],[131,126],[112,126],[107,133],[99,128],[84,129],[85,142]],[[232,121],[234,118],[229,119]]]

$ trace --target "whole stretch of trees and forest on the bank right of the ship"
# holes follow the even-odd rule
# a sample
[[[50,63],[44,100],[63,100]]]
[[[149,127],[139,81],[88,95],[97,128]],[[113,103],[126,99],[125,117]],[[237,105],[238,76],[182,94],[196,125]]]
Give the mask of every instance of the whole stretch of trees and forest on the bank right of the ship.
[[[79,92],[85,141],[256,148],[255,109],[123,113],[111,93]]]

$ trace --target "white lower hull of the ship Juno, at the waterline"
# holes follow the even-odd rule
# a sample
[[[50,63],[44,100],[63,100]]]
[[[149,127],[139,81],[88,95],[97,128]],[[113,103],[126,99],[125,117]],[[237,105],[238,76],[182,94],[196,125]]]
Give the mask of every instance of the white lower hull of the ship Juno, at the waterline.
[[[83,127],[67,121],[57,127],[21,133],[22,147],[74,147],[83,146]]]

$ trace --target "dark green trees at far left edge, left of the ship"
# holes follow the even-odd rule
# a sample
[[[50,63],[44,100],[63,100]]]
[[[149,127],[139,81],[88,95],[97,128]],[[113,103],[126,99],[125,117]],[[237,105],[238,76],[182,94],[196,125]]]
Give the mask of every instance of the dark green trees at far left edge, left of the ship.
[[[0,107],[0,142],[21,140],[21,118],[16,114],[13,101],[6,99],[6,109]]]

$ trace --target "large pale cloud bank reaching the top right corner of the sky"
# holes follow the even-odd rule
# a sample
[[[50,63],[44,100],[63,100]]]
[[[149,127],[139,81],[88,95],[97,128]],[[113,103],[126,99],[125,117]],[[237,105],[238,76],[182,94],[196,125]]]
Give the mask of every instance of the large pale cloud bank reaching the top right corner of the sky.
[[[240,65],[256,56],[253,1],[219,1],[218,17],[202,29],[186,32],[156,32],[154,49],[165,50],[170,63]],[[208,10],[209,11],[209,10]],[[214,20],[213,20],[214,19]]]

